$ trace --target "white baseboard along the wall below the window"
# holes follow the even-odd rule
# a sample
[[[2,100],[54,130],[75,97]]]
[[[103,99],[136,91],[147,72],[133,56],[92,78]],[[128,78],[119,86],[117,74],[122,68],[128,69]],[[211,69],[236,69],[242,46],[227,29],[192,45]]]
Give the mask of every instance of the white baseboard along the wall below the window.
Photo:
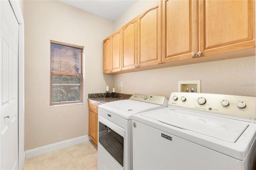
[[[39,148],[26,150],[25,151],[26,152],[26,158],[31,158],[31,157],[34,157],[34,156],[38,156],[40,154],[45,154],[47,152],[52,152],[54,150],[58,150],[58,149],[61,149],[61,148],[72,146],[74,144],[86,142],[88,140],[91,140],[91,138],[88,135],[85,135],[85,136],[80,136],[80,137],[77,137],[77,138],[72,138],[72,139],[69,139],[69,140],[64,140],[64,141],[61,141],[61,142],[57,142],[57,143],[54,143],[54,144],[49,144],[49,145],[42,146],[42,147],[39,147]]]

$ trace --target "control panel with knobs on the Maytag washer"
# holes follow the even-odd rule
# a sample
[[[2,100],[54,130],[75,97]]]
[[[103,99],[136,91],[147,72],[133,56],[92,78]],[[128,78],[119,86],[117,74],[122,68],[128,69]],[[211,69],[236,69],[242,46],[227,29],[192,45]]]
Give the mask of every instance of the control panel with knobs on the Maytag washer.
[[[174,92],[168,106],[249,119],[256,123],[256,98],[251,96]]]

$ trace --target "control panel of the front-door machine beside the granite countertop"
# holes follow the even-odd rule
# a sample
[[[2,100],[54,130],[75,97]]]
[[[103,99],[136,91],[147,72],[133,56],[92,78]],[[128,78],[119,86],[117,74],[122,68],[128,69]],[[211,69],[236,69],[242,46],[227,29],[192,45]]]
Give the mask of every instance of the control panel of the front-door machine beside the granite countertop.
[[[156,105],[166,105],[168,100],[164,96],[154,96],[154,95],[144,95],[144,94],[134,94],[129,100],[142,101],[146,103],[153,103]]]

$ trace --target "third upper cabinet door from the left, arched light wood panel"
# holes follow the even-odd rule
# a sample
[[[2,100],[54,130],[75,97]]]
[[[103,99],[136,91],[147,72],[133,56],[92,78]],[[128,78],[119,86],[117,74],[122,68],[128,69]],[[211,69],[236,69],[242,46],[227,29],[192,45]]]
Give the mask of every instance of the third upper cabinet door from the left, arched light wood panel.
[[[122,70],[137,65],[138,22],[137,17],[122,27]]]

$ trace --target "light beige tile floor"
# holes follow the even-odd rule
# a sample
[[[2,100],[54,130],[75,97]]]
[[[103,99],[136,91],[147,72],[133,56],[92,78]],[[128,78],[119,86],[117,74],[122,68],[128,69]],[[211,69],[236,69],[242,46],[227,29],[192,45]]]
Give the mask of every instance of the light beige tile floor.
[[[97,146],[92,140],[28,158],[23,170],[97,170]]]

